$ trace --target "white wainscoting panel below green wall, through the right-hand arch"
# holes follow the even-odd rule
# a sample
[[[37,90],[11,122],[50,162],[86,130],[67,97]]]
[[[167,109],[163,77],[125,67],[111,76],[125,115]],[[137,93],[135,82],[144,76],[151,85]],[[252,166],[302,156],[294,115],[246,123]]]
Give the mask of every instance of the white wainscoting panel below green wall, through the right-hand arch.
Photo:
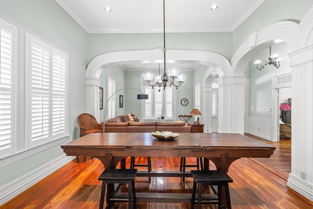
[[[271,140],[271,119],[265,117],[248,117],[248,134],[252,134],[263,139]]]

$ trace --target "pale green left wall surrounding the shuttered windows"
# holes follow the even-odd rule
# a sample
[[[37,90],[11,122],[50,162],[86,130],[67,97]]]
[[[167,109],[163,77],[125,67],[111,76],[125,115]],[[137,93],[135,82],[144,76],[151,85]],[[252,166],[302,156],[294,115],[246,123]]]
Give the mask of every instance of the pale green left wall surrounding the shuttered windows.
[[[79,138],[76,118],[86,112],[87,33],[54,0],[1,0],[0,14],[69,54],[69,134]],[[23,69],[21,69],[23,70]],[[65,155],[60,145],[0,168],[0,187]]]

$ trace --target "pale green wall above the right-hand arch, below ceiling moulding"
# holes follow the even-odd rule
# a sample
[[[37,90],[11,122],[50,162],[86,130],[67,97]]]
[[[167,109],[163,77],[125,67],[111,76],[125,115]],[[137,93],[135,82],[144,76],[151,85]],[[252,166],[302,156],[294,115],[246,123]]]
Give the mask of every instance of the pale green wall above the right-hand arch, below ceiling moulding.
[[[279,21],[300,22],[312,5],[313,0],[266,0],[233,32],[233,52],[254,31]]]

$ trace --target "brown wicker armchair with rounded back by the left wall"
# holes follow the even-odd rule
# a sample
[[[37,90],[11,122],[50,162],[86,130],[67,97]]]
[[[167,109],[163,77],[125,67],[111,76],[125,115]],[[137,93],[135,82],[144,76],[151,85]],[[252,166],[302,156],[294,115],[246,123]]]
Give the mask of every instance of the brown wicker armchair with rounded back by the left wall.
[[[97,119],[88,113],[79,115],[77,117],[77,124],[80,129],[79,137],[91,133],[103,132],[103,124],[98,123]]]

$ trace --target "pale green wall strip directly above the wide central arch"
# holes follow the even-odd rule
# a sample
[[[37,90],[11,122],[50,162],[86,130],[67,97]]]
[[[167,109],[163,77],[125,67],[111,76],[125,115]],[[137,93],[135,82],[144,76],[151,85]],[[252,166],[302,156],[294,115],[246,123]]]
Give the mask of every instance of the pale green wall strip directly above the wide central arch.
[[[166,33],[167,49],[214,51],[232,56],[232,33]],[[163,34],[89,34],[87,58],[112,51],[163,48]]]

